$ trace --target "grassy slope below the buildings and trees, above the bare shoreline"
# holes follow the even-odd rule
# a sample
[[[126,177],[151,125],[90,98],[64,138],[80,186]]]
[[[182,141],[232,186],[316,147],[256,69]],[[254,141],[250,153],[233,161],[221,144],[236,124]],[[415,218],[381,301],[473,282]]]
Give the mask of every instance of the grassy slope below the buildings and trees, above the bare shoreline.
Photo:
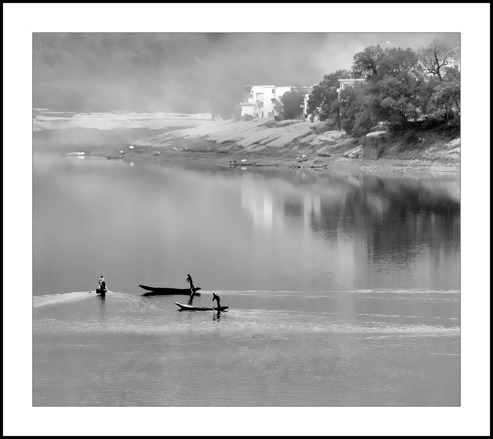
[[[424,141],[420,142],[420,138],[424,138]],[[310,159],[316,158],[318,153],[330,154],[333,160],[345,157],[361,147],[359,158],[378,162],[386,159],[440,163],[444,166],[460,164],[460,137],[457,130],[447,131],[442,128],[380,135],[370,133],[355,139],[342,131],[328,129],[323,122],[298,120],[210,121],[142,139],[134,143],[134,150],[126,151],[127,157],[138,155],[141,158],[172,159],[183,156],[185,145],[189,156],[195,153],[194,158],[200,156],[211,160],[228,156],[231,159],[266,158],[290,162],[302,154]],[[160,155],[155,156],[158,153]]]

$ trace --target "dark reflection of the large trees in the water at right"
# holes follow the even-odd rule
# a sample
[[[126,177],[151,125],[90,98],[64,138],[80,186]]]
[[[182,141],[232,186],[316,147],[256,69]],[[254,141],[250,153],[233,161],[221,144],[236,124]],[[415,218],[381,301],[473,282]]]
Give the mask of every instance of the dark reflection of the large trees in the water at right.
[[[362,178],[341,199],[322,198],[318,218],[310,227],[346,235],[363,232],[368,257],[409,260],[423,245],[433,254],[459,245],[460,204],[445,192],[425,188],[419,181],[374,176]],[[327,236],[329,238],[329,235]]]

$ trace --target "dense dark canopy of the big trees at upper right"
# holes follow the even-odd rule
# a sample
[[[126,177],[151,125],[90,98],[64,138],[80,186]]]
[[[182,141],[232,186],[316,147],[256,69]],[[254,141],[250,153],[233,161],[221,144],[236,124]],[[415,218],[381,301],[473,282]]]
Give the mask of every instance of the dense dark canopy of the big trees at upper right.
[[[422,50],[430,54],[427,64],[409,47],[370,46],[357,53],[354,76],[365,81],[346,84],[337,96],[337,79],[348,72],[325,75],[308,99],[310,118],[331,120],[352,136],[367,134],[381,122],[397,129],[426,120],[459,124],[460,71],[446,67],[450,56],[443,43],[435,40]]]

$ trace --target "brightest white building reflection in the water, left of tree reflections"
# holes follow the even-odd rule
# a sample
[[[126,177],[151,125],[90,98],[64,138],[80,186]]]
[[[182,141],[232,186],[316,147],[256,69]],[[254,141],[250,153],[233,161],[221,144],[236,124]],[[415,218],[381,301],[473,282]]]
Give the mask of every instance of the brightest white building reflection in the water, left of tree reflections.
[[[244,182],[241,187],[241,205],[252,213],[254,227],[272,228],[272,194],[265,187],[255,185],[253,181]]]

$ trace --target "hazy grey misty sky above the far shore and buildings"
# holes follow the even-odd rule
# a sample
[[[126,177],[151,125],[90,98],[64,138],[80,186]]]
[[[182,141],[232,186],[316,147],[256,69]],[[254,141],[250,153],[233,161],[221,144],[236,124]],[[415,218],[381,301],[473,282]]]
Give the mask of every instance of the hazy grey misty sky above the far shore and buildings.
[[[33,104],[58,111],[208,112],[244,84],[318,84],[369,46],[459,33],[33,33]]]

